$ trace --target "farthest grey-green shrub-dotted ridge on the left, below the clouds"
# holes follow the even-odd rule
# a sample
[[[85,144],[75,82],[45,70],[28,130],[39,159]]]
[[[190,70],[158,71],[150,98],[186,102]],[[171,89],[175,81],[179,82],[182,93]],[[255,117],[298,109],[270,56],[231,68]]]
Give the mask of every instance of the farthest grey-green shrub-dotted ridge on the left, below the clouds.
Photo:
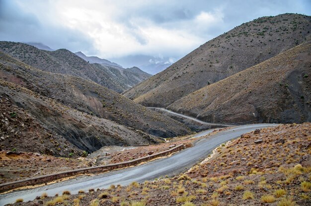
[[[112,66],[89,64],[67,49],[45,51],[28,44],[1,41],[0,51],[43,71],[91,80],[118,93],[151,77],[143,71],[124,74],[122,69]]]

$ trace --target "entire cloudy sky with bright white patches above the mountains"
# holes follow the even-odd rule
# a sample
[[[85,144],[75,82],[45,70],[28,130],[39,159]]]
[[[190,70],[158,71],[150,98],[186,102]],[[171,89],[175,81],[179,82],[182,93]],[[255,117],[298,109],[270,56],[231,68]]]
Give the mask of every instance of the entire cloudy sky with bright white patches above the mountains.
[[[311,15],[311,0],[0,0],[0,40],[174,62],[234,26],[286,12]]]

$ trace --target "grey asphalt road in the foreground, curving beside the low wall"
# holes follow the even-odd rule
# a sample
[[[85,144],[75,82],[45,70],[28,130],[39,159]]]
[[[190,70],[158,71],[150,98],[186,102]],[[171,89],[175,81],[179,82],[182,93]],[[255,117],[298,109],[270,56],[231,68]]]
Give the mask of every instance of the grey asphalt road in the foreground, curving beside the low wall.
[[[123,170],[112,171],[101,175],[91,177],[78,177],[76,179],[42,186],[35,189],[11,192],[0,195],[0,206],[14,203],[16,199],[22,198],[24,201],[34,200],[42,193],[48,196],[62,194],[69,190],[72,194],[77,194],[79,190],[108,188],[114,185],[129,185],[131,182],[143,182],[145,180],[154,180],[160,176],[172,176],[185,172],[195,163],[202,161],[218,145],[231,139],[239,137],[241,134],[253,131],[258,128],[273,127],[277,124],[250,124],[234,127],[232,129],[221,131],[209,136],[208,139],[199,140],[193,147],[180,151],[170,157],[155,160],[137,167],[126,168]],[[204,135],[204,132],[202,132]]]

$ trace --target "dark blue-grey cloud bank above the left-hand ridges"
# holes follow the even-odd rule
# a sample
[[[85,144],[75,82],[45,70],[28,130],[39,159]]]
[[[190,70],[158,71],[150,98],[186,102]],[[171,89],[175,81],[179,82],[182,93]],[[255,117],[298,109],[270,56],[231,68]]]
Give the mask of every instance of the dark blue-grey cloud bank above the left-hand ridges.
[[[35,15],[20,9],[10,0],[0,0],[0,40],[40,42],[53,49],[67,48],[73,52],[83,50],[96,53],[92,40],[80,32],[41,23]]]

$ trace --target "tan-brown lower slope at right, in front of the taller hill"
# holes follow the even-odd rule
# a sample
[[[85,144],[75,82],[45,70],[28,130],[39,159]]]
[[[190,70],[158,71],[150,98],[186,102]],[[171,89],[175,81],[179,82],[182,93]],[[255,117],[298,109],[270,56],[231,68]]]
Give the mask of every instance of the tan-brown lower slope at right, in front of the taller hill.
[[[168,108],[208,122],[311,121],[311,42],[206,86]]]

